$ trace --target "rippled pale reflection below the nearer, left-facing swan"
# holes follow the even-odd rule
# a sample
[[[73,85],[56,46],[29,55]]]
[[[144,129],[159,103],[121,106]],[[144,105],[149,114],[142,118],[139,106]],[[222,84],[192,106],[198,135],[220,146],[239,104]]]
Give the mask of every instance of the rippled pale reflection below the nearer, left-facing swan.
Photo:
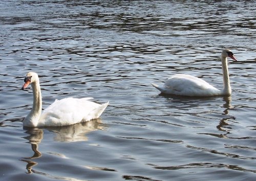
[[[42,153],[38,149],[38,145],[44,137],[44,129],[56,133],[53,140],[59,142],[78,142],[88,141],[87,133],[95,130],[105,129],[105,125],[101,123],[101,119],[95,119],[87,122],[77,123],[70,126],[61,127],[45,127],[45,128],[30,128],[24,127],[25,133],[29,134],[24,139],[28,140],[31,144],[32,151],[34,154],[30,157],[23,157],[21,161],[27,162],[26,169],[27,173],[35,172],[32,167],[37,165],[36,162],[31,161],[32,159],[38,159],[42,156]]]

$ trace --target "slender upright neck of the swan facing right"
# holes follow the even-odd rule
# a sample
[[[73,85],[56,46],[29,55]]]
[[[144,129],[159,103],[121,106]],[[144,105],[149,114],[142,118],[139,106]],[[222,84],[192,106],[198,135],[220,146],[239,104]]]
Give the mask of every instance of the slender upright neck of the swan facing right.
[[[221,56],[221,63],[222,63],[223,84],[224,84],[224,88],[223,88],[222,92],[223,92],[223,95],[230,95],[231,94],[231,86],[230,86],[230,82],[229,82],[227,58]]]

